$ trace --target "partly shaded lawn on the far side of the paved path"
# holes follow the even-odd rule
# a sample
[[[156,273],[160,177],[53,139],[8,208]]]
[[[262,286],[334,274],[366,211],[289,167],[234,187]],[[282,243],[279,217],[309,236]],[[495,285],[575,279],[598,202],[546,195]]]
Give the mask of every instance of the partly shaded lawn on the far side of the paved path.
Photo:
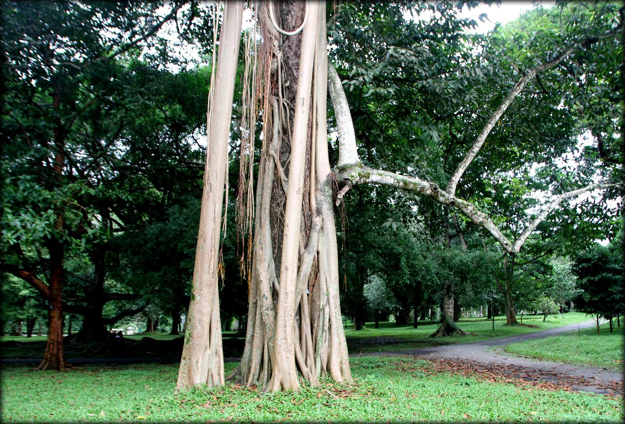
[[[457,325],[462,330],[476,333],[476,335],[442,338],[429,338],[429,335],[438,328],[439,323],[437,322],[426,321],[421,323],[419,321],[419,328],[412,328],[412,324],[395,326],[393,323],[380,323],[380,328],[374,328],[374,323],[367,323],[362,330],[346,329],[345,336],[349,353],[384,352],[429,348],[432,346],[469,343],[496,337],[521,335],[563,325],[576,324],[589,319],[586,314],[581,312],[565,313],[563,317],[561,315],[549,315],[544,322],[542,321],[542,315],[524,315],[522,326],[509,326],[504,325],[506,323],[504,316],[496,316],[495,330],[493,331],[491,320],[486,320],[486,318],[461,318]],[[521,315],[517,315],[517,320],[521,320]],[[525,325],[531,325],[532,327]]]

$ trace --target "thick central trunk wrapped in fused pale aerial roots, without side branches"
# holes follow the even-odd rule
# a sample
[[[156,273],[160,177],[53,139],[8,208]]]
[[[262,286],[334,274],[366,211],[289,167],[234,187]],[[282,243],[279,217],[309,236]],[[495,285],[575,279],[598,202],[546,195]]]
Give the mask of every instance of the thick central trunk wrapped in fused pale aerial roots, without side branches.
[[[326,374],[351,381],[327,153],[325,8],[314,1],[281,3],[271,23],[273,6],[261,3],[258,11],[264,42],[257,91],[263,96],[265,137],[246,345],[229,376],[267,391],[299,390],[298,372],[311,385]],[[304,14],[303,31],[279,35],[276,27],[291,31]]]

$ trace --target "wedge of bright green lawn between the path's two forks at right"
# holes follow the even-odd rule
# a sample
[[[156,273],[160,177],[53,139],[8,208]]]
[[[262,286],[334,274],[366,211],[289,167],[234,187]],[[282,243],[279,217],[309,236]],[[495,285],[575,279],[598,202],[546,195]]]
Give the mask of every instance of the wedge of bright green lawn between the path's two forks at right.
[[[512,343],[506,346],[505,351],[542,360],[622,370],[623,335],[622,327],[614,328],[610,333],[604,325],[599,335],[596,328],[571,331],[559,336]]]

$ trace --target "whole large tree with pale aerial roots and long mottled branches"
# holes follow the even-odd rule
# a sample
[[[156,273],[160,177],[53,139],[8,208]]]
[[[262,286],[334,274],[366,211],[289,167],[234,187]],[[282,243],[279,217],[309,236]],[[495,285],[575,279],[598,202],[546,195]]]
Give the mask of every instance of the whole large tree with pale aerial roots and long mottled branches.
[[[232,103],[232,91],[226,92],[224,87],[231,84],[229,80],[226,83],[226,75],[234,78],[237,57],[234,44],[239,37],[236,28],[240,26],[241,11],[241,3],[226,3],[216,79],[211,85],[215,93],[211,106],[216,110],[212,107],[209,110],[201,229],[178,389],[197,383],[219,385],[224,381],[216,285],[227,163],[224,151],[227,129],[224,128],[229,128],[231,113],[224,111],[229,105],[223,106]],[[362,163],[341,79],[327,61],[324,3],[262,2],[252,13],[259,34],[254,27],[244,39],[246,63],[237,191],[237,229],[245,246],[241,263],[249,284],[249,309],[241,362],[228,377],[236,383],[280,391],[299,390],[302,381],[317,385],[319,377],[324,375],[336,381],[351,381],[339,307],[332,203],[338,204],[352,186],[383,184],[457,209],[501,244],[513,267],[514,258],[529,235],[562,202],[592,189],[614,185],[591,183],[554,194],[514,240],[504,234],[487,212],[456,195],[462,175],[527,83],[578,49],[595,43],[596,38],[565,47],[554,58],[524,71],[492,111],[447,186],[441,188],[427,179],[374,169]],[[234,15],[236,18],[232,18]],[[604,35],[613,37],[614,31]],[[230,50],[229,59],[225,58],[226,49],[234,49]],[[326,127],[328,91],[338,131],[339,158],[333,171]],[[215,99],[219,99],[218,105]],[[259,117],[262,144],[254,193],[253,159],[258,148],[254,146],[255,121]],[[219,137],[217,127],[224,131]],[[205,213],[205,205],[212,209]],[[514,268],[508,270],[512,273]],[[508,321],[513,323],[514,307],[511,300],[508,303]]]

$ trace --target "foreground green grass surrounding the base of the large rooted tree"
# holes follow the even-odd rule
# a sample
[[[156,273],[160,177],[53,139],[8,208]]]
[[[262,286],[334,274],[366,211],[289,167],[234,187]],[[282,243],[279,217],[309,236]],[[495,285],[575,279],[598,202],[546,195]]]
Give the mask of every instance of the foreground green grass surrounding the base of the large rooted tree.
[[[5,421],[619,421],[621,400],[426,373],[412,357],[352,358],[354,383],[322,379],[299,393],[226,385],[174,394],[178,366],[2,370]],[[226,364],[227,370],[236,363]],[[332,393],[332,396],[328,392]],[[468,417],[468,418],[467,418]]]

